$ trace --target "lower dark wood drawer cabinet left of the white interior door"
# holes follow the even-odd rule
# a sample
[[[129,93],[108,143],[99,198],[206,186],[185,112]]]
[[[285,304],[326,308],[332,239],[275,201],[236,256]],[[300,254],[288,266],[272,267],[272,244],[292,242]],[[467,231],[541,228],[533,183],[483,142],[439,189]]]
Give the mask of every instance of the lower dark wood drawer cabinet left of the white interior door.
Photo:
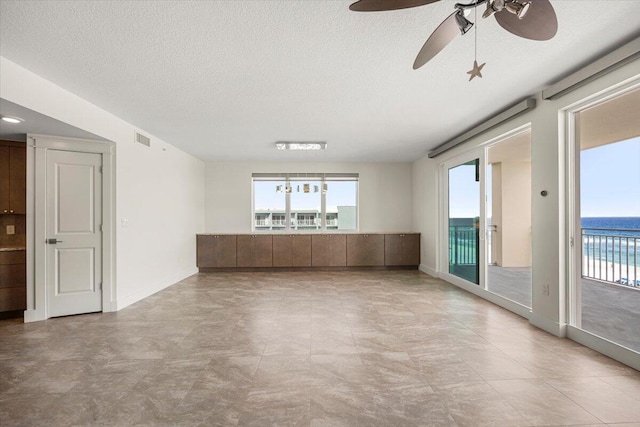
[[[26,281],[25,252],[0,252],[0,311],[27,308]]]

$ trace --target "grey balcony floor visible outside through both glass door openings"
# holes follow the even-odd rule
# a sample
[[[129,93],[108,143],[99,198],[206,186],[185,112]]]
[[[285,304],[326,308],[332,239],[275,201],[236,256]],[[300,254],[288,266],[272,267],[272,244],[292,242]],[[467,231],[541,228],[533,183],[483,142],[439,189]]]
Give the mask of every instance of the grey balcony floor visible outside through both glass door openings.
[[[531,269],[489,266],[489,291],[531,307]],[[582,329],[640,351],[640,290],[582,279]]]

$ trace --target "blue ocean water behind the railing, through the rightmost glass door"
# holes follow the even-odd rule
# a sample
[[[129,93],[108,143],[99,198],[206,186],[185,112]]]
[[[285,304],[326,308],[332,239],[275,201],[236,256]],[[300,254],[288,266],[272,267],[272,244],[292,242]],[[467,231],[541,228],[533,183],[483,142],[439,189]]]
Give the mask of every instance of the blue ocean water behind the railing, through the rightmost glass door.
[[[640,266],[640,217],[582,218],[581,225],[589,261]]]

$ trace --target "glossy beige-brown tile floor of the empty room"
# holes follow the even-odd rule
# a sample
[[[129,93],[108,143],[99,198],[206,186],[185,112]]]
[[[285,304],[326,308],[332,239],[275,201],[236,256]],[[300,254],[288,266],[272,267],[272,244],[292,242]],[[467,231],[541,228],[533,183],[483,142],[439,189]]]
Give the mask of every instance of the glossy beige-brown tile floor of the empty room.
[[[0,321],[0,426],[640,426],[640,372],[417,271],[198,274]]]

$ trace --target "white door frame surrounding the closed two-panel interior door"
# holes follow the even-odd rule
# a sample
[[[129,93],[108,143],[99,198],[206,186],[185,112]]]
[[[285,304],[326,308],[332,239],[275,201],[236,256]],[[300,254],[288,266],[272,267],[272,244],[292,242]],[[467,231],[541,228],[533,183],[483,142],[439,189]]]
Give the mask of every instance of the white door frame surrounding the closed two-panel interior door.
[[[46,271],[47,150],[102,154],[102,311],[116,311],[115,144],[27,135],[27,309],[25,322],[49,318]],[[44,185],[43,185],[44,184]]]

